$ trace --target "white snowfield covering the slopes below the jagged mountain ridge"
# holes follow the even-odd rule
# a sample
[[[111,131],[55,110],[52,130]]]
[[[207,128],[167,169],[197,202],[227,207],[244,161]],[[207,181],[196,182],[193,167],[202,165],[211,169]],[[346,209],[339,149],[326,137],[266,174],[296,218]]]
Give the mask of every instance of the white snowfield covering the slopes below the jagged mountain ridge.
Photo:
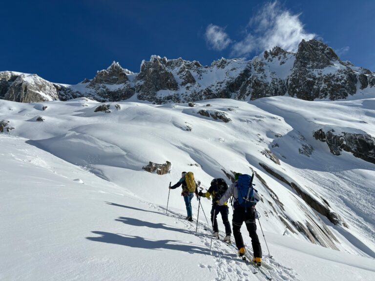
[[[204,189],[213,178],[229,183],[225,173],[257,174],[272,258],[259,224],[257,233],[272,280],[375,280],[375,164],[345,151],[334,156],[312,136],[322,128],[375,137],[375,99],[105,104],[111,112],[95,112],[101,103],[86,98],[0,100],[0,121],[14,128],[0,133],[1,281],[267,280],[224,242],[209,249],[209,200],[202,199],[197,234],[196,199],[192,223],[179,188],[170,191],[166,213],[169,182],[182,171]],[[149,161],[171,162],[170,172],[146,172]],[[220,216],[218,223],[223,238]],[[242,234],[251,254],[245,225]]]

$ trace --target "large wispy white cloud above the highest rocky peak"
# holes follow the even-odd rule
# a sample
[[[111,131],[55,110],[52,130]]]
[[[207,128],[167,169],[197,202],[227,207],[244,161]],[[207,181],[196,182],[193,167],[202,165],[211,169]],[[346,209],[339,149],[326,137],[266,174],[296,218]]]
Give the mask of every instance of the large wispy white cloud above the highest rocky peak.
[[[252,51],[263,51],[279,46],[287,51],[297,51],[302,39],[311,40],[316,35],[304,30],[299,19],[283,9],[277,1],[265,4],[249,21],[250,34],[231,47],[231,56],[248,56]]]

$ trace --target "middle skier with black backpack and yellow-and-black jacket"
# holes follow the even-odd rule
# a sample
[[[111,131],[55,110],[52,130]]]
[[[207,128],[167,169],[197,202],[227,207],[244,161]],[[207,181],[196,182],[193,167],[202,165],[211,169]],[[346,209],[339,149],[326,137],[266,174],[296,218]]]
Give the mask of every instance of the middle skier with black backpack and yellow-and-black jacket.
[[[217,226],[216,217],[220,213],[223,223],[225,225],[225,233],[226,236],[224,241],[230,243],[230,223],[228,220],[229,215],[229,208],[227,202],[224,202],[223,205],[219,206],[217,203],[219,202],[220,198],[224,195],[224,193],[228,189],[228,184],[223,179],[213,179],[211,181],[211,185],[208,188],[207,192],[198,192],[198,196],[201,197],[212,197],[212,208],[211,208],[211,222],[213,224],[213,237],[219,238],[219,228]]]

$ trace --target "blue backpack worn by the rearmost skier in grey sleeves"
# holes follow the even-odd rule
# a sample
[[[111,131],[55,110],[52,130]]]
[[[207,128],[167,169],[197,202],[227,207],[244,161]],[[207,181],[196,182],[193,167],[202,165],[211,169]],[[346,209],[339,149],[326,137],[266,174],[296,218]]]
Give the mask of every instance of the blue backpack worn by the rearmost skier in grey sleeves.
[[[240,175],[237,180],[237,201],[241,207],[249,208],[254,206],[260,199],[258,191],[252,187],[254,173],[250,175]]]

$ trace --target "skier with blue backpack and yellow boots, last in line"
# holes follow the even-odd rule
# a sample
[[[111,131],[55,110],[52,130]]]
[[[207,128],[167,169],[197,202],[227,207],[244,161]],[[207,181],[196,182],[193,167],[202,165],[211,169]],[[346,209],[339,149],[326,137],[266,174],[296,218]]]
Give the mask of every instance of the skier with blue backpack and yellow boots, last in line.
[[[249,187],[251,185],[251,181],[249,180],[251,177],[249,175],[242,175],[240,173],[235,174],[234,176],[235,182],[233,182],[229,187],[227,192],[223,195],[223,197],[219,200],[218,204],[223,205],[226,201],[228,201],[230,196],[233,196],[234,201],[234,211],[233,211],[233,236],[236,242],[236,246],[238,248],[238,254],[240,257],[245,255],[245,246],[244,241],[241,235],[241,226],[242,223],[245,221],[246,228],[249,231],[249,235],[251,238],[252,250],[254,252],[254,257],[252,261],[256,263],[258,266],[261,265],[262,260],[262,248],[260,246],[258,235],[256,234],[256,223],[255,223],[255,201],[259,201],[258,193],[255,189],[253,189],[253,197],[255,198],[254,202],[245,201],[245,194],[249,195]],[[246,181],[247,180],[247,181]],[[240,182],[240,184],[238,184]],[[246,184],[243,184],[245,182]],[[247,186],[246,186],[247,185]],[[245,189],[244,189],[245,188]],[[240,194],[240,197],[238,196]],[[247,197],[246,197],[247,199]],[[244,205],[246,206],[244,207]]]

